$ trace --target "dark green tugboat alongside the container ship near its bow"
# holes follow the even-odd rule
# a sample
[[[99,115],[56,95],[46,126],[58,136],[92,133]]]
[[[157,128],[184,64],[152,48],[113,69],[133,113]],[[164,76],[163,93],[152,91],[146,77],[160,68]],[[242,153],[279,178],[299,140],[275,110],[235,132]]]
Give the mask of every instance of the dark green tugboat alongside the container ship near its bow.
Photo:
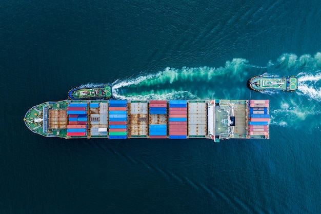
[[[76,87],[68,91],[71,100],[109,100],[112,96],[111,86]]]

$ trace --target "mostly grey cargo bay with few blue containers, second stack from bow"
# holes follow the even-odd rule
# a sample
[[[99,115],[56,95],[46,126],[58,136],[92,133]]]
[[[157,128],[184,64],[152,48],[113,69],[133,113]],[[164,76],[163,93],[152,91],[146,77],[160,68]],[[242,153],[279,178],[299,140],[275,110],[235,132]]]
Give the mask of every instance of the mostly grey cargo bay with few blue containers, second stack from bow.
[[[107,137],[108,103],[90,103],[90,135],[93,138]]]

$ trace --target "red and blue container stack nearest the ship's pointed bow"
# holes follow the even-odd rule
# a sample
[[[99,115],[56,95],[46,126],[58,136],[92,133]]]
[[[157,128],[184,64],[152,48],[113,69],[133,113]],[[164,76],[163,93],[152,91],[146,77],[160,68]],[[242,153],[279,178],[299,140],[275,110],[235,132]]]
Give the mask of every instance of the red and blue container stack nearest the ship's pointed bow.
[[[70,103],[67,107],[69,122],[67,125],[67,136],[87,135],[87,103]]]

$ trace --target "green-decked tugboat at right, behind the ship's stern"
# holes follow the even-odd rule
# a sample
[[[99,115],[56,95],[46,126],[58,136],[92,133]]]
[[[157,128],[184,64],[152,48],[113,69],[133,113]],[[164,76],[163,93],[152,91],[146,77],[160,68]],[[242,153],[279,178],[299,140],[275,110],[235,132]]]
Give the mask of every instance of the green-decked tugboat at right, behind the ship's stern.
[[[254,91],[293,92],[298,87],[296,76],[254,76],[248,81],[248,87]]]

